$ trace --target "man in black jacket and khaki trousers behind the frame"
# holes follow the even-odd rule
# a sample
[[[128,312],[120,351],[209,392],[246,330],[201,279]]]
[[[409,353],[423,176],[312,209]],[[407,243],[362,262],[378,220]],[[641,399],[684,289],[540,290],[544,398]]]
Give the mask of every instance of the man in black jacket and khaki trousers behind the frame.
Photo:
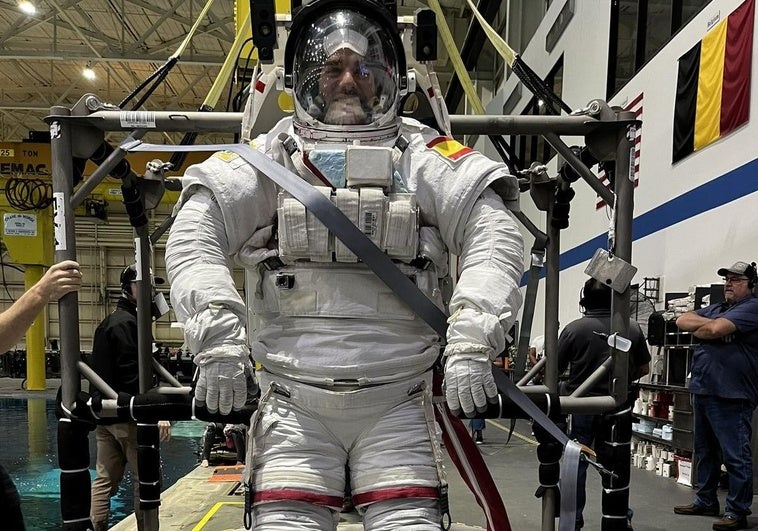
[[[139,364],[137,346],[137,266],[124,268],[119,279],[121,297],[116,309],[98,325],[92,342],[92,368],[113,390],[129,395],[139,394]],[[153,277],[152,283],[163,284]],[[92,396],[100,396],[93,386]],[[114,419],[115,420],[115,419]],[[107,421],[105,421],[107,422]],[[161,440],[171,434],[168,421],[158,423]],[[99,424],[95,429],[97,441],[97,477],[92,482],[91,520],[95,531],[109,528],[110,498],[118,492],[129,463],[134,483],[134,499],[139,500],[137,475],[137,424],[113,422]],[[139,503],[134,505],[137,528],[144,529]]]

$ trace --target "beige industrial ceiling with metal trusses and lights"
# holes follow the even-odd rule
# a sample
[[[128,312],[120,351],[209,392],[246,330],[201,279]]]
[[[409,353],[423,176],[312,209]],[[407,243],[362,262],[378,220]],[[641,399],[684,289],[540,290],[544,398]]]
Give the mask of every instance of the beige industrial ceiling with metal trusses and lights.
[[[20,141],[27,139],[30,131],[47,131],[43,118],[51,106],[71,107],[88,92],[119,105],[177,52],[207,3],[32,1],[37,11],[27,15],[19,9],[17,0],[0,0],[0,141]],[[463,7],[465,2],[440,3],[462,46],[470,19]],[[236,31],[234,2],[211,0],[210,4],[176,67],[143,109],[194,111],[203,104]],[[425,5],[401,0],[398,11],[401,15],[412,14],[419,7]],[[94,80],[82,75],[88,66],[95,73]],[[441,68],[448,71],[449,79],[449,67]],[[227,94],[228,88],[216,110],[227,108]],[[170,143],[178,138],[165,135],[164,140]]]

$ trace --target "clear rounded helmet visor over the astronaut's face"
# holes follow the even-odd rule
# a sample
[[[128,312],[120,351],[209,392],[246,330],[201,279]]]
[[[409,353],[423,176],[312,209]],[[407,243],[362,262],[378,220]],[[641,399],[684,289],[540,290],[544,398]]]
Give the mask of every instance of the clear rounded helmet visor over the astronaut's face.
[[[342,129],[394,121],[397,63],[386,30],[364,15],[339,10],[316,19],[295,47],[296,118]]]

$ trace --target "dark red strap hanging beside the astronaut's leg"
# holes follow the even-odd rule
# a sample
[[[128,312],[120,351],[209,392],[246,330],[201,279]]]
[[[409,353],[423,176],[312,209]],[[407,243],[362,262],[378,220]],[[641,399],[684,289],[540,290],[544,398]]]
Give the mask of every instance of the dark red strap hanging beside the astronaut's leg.
[[[487,464],[461,419],[444,402],[435,404],[434,415],[442,428],[442,440],[463,481],[484,510],[487,531],[511,531],[508,513]]]

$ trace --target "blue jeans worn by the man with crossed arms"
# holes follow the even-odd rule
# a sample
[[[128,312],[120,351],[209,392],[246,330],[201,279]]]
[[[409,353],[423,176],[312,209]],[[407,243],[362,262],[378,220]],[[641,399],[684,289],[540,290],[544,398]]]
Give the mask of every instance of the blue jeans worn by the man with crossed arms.
[[[746,516],[753,502],[753,458],[750,452],[753,406],[748,400],[692,395],[697,460],[697,505],[718,504],[721,463],[729,474],[724,514]]]

